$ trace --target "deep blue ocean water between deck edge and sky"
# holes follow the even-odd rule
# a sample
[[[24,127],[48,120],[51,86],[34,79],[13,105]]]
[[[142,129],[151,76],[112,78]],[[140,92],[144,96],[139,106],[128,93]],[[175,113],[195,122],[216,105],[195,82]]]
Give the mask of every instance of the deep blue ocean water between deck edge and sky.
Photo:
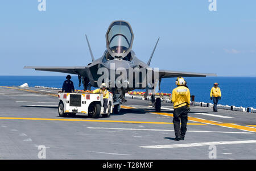
[[[28,83],[28,86],[62,87],[65,76],[0,76],[0,86],[19,86]],[[71,79],[75,89],[79,81],[76,76]],[[176,78],[163,78],[159,92],[171,93],[176,87]],[[185,78],[191,95],[195,95],[196,102],[210,101],[210,89],[214,82],[218,82],[221,89],[221,105],[234,105],[256,108],[256,77],[206,77]],[[93,88],[92,88],[93,89]]]

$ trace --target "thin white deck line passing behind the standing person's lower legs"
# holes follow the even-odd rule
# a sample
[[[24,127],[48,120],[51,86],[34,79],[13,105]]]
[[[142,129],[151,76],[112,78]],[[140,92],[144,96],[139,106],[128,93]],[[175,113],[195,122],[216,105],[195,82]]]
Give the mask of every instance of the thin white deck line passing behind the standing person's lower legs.
[[[151,130],[151,129],[139,129],[139,128],[103,128],[103,127],[87,127],[89,129],[102,129],[102,130],[130,130],[130,131],[168,131],[174,132],[174,130]],[[253,134],[250,132],[225,132],[225,131],[187,131],[187,132],[213,132],[213,133],[226,133],[226,134]]]

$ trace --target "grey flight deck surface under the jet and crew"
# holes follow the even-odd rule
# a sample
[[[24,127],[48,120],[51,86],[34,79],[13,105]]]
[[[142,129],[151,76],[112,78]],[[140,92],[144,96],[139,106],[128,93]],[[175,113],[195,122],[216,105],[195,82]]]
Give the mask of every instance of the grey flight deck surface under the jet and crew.
[[[0,159],[39,159],[38,145],[46,147],[46,159],[209,159],[209,144],[201,143],[223,141],[216,145],[217,159],[256,159],[255,131],[189,121],[185,140],[174,141],[173,124],[159,124],[172,123],[172,117],[152,113],[149,101],[127,99],[123,105],[134,109],[122,109],[110,118],[90,119],[84,114],[60,118],[57,97],[45,94],[56,94],[56,90],[28,90],[41,93],[0,87]],[[163,113],[172,114],[170,103],[162,107]],[[256,125],[256,114],[246,112],[192,106],[189,116],[243,127]]]

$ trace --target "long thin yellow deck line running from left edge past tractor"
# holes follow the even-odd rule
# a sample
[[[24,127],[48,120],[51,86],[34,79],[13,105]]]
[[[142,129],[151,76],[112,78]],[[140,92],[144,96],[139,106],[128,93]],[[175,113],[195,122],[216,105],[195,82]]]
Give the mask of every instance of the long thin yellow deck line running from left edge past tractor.
[[[142,122],[142,121],[126,121],[126,120],[89,120],[89,119],[51,119],[51,118],[13,118],[0,117],[0,119],[16,119],[16,120],[55,120],[55,121],[82,121],[82,122],[114,122],[114,123],[148,123],[148,124],[173,124],[170,122]],[[189,125],[205,125],[201,123],[188,123]]]

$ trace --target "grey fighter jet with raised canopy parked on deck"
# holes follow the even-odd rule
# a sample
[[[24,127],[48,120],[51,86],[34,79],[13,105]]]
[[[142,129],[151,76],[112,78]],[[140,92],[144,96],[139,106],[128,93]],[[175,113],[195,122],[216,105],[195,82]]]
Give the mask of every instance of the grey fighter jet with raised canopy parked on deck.
[[[176,72],[150,68],[159,38],[147,63],[139,60],[131,49],[133,39],[134,34],[130,24],[124,20],[115,20],[106,32],[106,51],[100,59],[94,59],[86,36],[92,57],[92,62],[87,66],[24,66],[24,68],[77,74],[80,83],[82,79],[84,90],[90,86],[99,87],[102,82],[105,82],[113,93],[114,113],[118,113],[121,103],[126,101],[125,93],[134,89],[146,89],[145,94],[147,95],[148,90],[155,90],[156,86],[160,87],[162,78],[216,76],[216,74],[209,73]]]

